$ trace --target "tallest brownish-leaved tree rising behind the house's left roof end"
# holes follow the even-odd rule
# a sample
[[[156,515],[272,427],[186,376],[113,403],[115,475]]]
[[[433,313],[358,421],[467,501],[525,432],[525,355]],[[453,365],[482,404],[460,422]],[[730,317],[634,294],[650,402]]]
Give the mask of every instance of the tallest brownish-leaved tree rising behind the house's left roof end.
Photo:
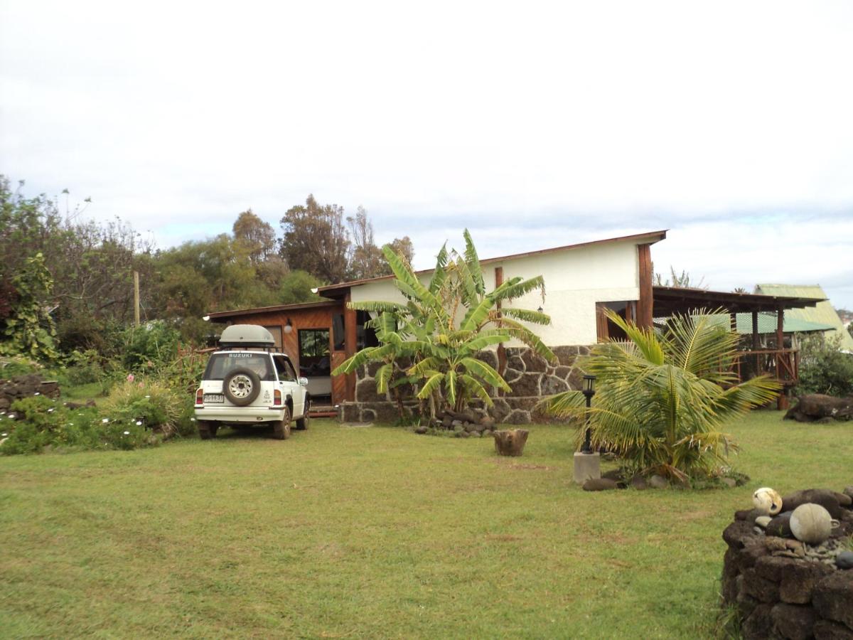
[[[321,205],[309,195],[305,205],[287,210],[281,218],[281,230],[281,257],[291,269],[308,271],[324,282],[346,279],[350,240],[344,207]]]

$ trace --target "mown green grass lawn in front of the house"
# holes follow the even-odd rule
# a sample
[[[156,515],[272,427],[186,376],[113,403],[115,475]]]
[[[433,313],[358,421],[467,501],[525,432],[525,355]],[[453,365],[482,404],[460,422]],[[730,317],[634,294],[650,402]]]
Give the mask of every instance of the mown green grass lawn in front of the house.
[[[0,636],[710,637],[733,511],[853,484],[850,423],[781,416],[697,492],[582,492],[553,426],[520,458],[328,421],[0,457]]]

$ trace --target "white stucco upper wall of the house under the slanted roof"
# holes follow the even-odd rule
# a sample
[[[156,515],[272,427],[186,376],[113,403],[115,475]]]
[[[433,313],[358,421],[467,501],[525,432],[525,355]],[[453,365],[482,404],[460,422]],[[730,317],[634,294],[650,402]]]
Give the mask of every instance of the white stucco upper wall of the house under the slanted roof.
[[[549,326],[531,325],[549,346],[595,343],[595,303],[638,300],[640,283],[637,246],[633,241],[577,247],[526,258],[506,259],[483,266],[486,289],[495,286],[495,268],[503,267],[503,279],[543,276],[545,300],[528,294],[512,305],[537,309],[551,317]],[[430,273],[421,276],[429,282]],[[367,282],[351,288],[351,300],[402,301],[393,280]],[[515,343],[508,346],[515,346]]]

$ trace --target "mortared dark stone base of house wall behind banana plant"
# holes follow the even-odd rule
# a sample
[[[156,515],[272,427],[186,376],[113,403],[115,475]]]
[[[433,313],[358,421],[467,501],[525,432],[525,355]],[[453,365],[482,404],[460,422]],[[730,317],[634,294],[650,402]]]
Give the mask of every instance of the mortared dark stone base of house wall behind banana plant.
[[[576,361],[579,356],[589,354],[589,346],[557,346],[552,347],[552,351],[558,359],[556,364],[549,364],[529,347],[507,349],[507,370],[503,377],[512,391],[498,394],[492,390],[490,393],[495,405],[489,414],[496,422],[552,422],[554,418],[537,410],[536,404],[554,393],[581,388],[583,370]],[[479,359],[497,369],[496,352],[480,352]],[[379,368],[380,364],[374,363],[357,371],[355,402],[345,402],[340,407],[344,422],[395,422],[399,418],[394,390],[381,395],[376,393],[374,375]],[[412,387],[400,387],[400,395],[404,410],[411,413],[419,410],[420,402],[415,399]]]

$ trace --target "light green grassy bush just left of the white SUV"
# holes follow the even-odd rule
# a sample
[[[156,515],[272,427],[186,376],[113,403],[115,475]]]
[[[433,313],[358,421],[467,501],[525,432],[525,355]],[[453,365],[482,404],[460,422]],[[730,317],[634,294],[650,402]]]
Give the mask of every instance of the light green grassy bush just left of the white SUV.
[[[183,404],[190,404],[160,381],[139,381],[134,376],[113,387],[102,412],[119,424],[153,429],[166,437],[178,433]]]

